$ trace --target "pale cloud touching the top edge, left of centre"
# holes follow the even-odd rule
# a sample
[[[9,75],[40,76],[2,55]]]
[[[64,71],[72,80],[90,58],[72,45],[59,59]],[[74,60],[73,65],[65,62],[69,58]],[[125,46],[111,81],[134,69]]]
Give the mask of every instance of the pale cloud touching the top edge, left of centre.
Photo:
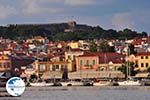
[[[40,15],[44,13],[59,13],[63,9],[46,6],[47,4],[58,3],[60,0],[23,0],[22,12],[24,15]]]

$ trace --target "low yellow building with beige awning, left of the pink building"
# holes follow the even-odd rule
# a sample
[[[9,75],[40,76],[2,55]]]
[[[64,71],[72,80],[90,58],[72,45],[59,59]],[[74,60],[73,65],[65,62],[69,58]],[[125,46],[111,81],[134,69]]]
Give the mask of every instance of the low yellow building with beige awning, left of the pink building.
[[[67,69],[68,72],[72,72],[72,62],[70,61],[42,61],[35,63],[35,73],[36,75],[41,74],[43,79],[61,78],[63,71]]]

